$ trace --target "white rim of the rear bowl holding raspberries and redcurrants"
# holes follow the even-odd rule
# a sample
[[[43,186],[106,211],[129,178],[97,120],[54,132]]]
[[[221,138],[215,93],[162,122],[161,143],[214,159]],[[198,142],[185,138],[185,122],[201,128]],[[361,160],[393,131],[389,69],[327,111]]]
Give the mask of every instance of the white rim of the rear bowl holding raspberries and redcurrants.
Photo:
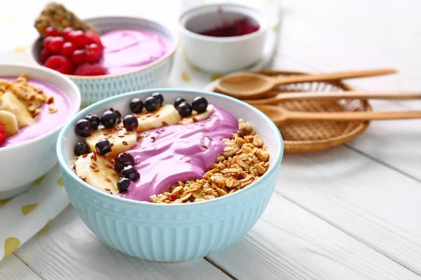
[[[138,18],[138,17],[124,16],[124,15],[105,15],[105,16],[100,16],[100,17],[86,18],[85,20],[86,20],[86,22],[90,22],[92,20],[105,20],[105,19],[112,19],[112,18],[114,18],[114,19],[121,18],[121,19],[126,19],[126,20],[140,20],[142,22],[150,22],[150,23],[159,25],[160,27],[163,27],[173,37],[173,41],[168,41],[168,45],[170,45],[170,43],[171,43],[171,48],[168,48],[165,55],[159,57],[159,59],[156,59],[154,62],[151,62],[149,64],[145,64],[143,66],[140,66],[138,69],[123,72],[123,73],[114,73],[114,74],[99,75],[99,76],[79,76],[79,75],[70,75],[70,74],[62,74],[62,75],[65,75],[68,78],[75,79],[75,80],[76,79],[79,79],[79,80],[95,80],[95,79],[98,79],[99,80],[99,79],[105,79],[105,78],[117,78],[117,77],[121,77],[121,76],[131,75],[133,73],[138,73],[140,71],[144,71],[146,69],[149,69],[150,67],[155,66],[155,65],[165,61],[166,59],[168,59],[172,55],[174,55],[175,51],[178,48],[179,38],[178,38],[177,32],[173,31],[170,27],[168,27],[167,25],[164,25],[163,23],[159,22],[158,20],[151,20],[151,19],[147,19],[147,18]],[[153,30],[153,29],[151,29],[151,30]],[[29,48],[29,57],[30,57],[32,63],[34,63],[36,65],[39,65],[39,66],[42,66],[42,67],[45,67],[45,68],[48,68],[48,67],[46,67],[46,66],[44,66],[44,65],[42,65],[38,62],[39,54],[36,54],[35,51],[34,51],[34,50],[36,50],[36,45],[39,44],[40,39],[41,38],[38,36],[31,43],[31,48]]]

